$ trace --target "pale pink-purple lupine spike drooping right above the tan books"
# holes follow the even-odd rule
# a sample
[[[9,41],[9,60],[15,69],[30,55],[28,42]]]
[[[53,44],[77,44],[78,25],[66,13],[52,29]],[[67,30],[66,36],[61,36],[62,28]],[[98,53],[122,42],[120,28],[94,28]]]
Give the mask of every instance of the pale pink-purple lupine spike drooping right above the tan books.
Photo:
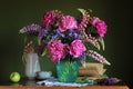
[[[103,56],[101,56],[96,51],[89,50],[88,56],[93,58],[94,60],[101,62],[101,63],[105,63],[105,65],[109,65],[109,66],[111,65],[108,60],[105,60],[105,58]]]

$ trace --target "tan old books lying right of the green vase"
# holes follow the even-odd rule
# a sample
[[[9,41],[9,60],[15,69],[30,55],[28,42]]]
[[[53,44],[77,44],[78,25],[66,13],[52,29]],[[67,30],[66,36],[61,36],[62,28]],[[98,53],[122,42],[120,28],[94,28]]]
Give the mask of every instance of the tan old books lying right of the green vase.
[[[104,65],[102,63],[94,63],[94,62],[86,62],[85,67],[79,68],[79,78],[89,77],[89,79],[101,79],[103,73],[106,71],[104,69]]]

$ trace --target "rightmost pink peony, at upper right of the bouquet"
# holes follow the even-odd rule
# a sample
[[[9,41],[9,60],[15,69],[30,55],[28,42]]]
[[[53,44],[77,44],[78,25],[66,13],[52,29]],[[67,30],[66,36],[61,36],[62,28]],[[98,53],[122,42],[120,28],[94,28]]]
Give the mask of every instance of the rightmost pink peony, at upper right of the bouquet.
[[[98,18],[94,18],[93,21],[92,21],[92,24],[96,28],[100,37],[103,38],[104,34],[106,33],[105,22],[103,20],[99,20]]]

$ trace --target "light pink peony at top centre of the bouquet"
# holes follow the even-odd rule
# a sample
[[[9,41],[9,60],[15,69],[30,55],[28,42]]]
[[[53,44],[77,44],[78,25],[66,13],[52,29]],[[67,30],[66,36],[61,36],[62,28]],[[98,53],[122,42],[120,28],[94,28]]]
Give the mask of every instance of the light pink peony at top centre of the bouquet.
[[[58,26],[59,26],[59,30],[63,32],[66,31],[68,29],[76,29],[78,22],[71,16],[63,16],[61,20],[58,22]]]

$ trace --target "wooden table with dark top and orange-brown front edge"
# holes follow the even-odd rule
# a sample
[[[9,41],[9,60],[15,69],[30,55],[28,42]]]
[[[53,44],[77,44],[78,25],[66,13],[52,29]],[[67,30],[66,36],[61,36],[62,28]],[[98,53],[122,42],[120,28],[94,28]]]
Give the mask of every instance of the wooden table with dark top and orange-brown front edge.
[[[130,89],[126,85],[117,86],[88,86],[88,87],[45,87],[37,86],[35,80],[21,80],[19,83],[10,81],[0,83],[0,89]]]

